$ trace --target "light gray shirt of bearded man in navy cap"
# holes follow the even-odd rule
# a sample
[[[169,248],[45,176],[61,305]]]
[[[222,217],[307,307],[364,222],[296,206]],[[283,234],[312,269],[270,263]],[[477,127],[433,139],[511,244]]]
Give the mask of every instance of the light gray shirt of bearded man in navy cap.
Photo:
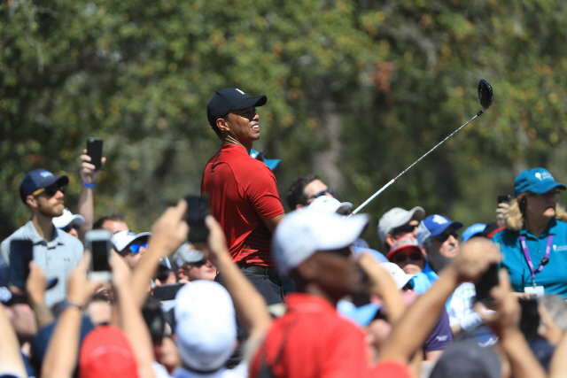
[[[43,269],[48,279],[58,278],[57,285],[45,293],[45,304],[48,306],[65,299],[69,274],[81,261],[84,250],[81,241],[73,235],[58,228],[55,228],[54,234],[55,237],[48,243],[37,234],[34,224],[29,220],[0,244],[0,251],[4,258],[2,264],[10,266],[10,242],[12,240],[31,240],[34,243],[35,264]]]

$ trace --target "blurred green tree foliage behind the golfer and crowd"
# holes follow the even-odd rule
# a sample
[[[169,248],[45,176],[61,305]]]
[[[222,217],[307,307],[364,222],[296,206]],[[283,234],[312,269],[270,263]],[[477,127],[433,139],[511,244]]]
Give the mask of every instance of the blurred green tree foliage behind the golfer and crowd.
[[[422,205],[465,224],[493,219],[522,169],[563,172],[567,4],[559,1],[11,0],[0,4],[0,235],[27,219],[19,181],[72,176],[88,136],[108,163],[96,214],[148,229],[198,192],[218,139],[215,89],[265,94],[257,150],[282,158],[284,197],[316,173],[361,204],[480,110],[365,211]],[[338,127],[336,122],[339,120]],[[334,126],[333,126],[334,125]],[[373,228],[375,229],[375,228]],[[372,230],[365,235],[377,246]]]

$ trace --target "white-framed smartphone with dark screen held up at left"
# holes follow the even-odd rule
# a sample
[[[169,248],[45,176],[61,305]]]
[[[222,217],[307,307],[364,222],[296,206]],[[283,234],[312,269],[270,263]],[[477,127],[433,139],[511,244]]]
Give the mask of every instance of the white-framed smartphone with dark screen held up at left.
[[[89,280],[110,281],[110,250],[112,244],[110,231],[105,229],[92,229],[85,234],[85,248],[90,251],[90,269],[87,274]]]

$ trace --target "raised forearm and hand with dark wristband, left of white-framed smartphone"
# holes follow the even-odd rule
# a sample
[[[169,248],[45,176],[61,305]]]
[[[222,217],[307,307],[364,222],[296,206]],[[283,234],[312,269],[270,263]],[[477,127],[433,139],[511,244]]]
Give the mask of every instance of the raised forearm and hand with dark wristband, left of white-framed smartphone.
[[[89,281],[87,270],[90,253],[85,252],[81,263],[69,275],[67,306],[59,315],[57,325],[43,359],[43,378],[70,378],[79,355],[82,308],[100,282]]]

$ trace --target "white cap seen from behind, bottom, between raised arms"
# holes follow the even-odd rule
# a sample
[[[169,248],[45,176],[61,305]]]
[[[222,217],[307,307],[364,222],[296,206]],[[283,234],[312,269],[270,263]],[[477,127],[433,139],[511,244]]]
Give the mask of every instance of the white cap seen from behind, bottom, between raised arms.
[[[237,321],[227,289],[198,280],[175,296],[175,334],[183,364],[210,372],[219,369],[237,346]]]

